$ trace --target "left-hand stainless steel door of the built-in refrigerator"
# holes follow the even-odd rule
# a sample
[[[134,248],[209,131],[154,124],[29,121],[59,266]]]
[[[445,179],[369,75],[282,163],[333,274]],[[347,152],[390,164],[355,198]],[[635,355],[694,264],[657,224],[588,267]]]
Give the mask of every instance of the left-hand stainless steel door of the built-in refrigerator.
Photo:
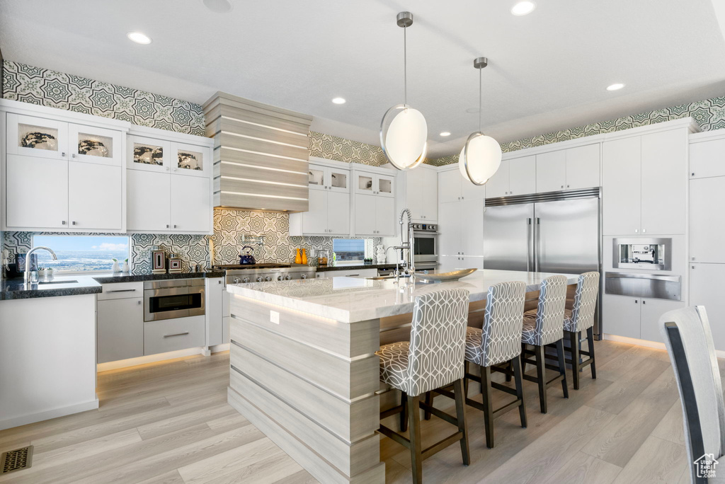
[[[486,206],[484,268],[534,270],[533,222],[534,204]]]

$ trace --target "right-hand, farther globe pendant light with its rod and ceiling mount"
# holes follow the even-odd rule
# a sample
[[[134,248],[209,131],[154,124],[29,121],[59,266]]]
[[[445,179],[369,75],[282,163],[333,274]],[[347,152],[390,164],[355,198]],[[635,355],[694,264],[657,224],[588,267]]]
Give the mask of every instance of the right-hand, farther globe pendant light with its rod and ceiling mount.
[[[501,146],[491,136],[481,132],[481,70],[489,64],[486,57],[473,59],[473,67],[479,70],[479,130],[471,133],[458,157],[458,170],[473,185],[484,185],[501,165]]]

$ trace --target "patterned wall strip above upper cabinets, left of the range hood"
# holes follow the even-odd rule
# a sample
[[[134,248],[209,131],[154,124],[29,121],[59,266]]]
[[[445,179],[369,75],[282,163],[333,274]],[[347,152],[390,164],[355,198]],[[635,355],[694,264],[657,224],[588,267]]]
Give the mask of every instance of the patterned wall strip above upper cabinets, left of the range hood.
[[[18,62],[3,66],[5,99],[204,136],[199,104]]]

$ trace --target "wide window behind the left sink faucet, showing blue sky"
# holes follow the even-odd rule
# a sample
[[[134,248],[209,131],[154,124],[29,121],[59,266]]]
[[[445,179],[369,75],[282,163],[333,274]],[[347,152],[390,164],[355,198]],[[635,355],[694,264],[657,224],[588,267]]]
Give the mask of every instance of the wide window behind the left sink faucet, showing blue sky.
[[[36,251],[38,267],[62,272],[108,272],[113,259],[123,264],[128,259],[126,235],[34,235],[33,247],[46,246],[55,252],[54,261],[47,251]]]

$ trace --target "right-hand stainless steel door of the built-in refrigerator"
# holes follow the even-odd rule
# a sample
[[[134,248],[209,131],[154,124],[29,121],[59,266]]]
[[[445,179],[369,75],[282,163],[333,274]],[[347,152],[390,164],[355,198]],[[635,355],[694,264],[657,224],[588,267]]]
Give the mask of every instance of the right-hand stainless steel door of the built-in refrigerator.
[[[534,228],[537,271],[599,271],[599,199],[537,202]]]

